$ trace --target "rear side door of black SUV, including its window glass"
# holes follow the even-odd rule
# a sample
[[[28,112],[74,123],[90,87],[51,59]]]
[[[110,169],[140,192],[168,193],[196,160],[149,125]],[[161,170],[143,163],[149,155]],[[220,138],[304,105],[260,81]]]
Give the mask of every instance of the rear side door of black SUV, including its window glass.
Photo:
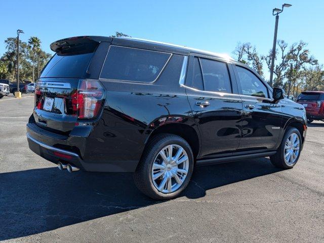
[[[186,93],[201,135],[200,157],[231,155],[238,148],[242,101],[233,91],[231,64],[190,56]]]

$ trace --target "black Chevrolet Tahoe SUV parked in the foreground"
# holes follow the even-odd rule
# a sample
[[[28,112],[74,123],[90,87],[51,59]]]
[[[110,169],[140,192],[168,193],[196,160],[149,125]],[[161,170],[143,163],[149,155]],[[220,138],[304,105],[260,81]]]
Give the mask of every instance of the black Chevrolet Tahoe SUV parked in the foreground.
[[[35,89],[29,147],[69,172],[134,172],[155,199],[177,196],[194,166],[270,156],[297,163],[305,109],[228,56],[133,38],[80,36]]]

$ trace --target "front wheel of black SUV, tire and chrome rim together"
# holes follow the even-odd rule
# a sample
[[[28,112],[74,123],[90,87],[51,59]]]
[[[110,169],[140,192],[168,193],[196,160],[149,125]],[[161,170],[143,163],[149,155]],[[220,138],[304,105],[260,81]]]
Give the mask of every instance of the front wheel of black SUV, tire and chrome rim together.
[[[293,168],[300,156],[302,137],[296,128],[289,128],[276,154],[270,156],[270,161],[275,167],[290,169]]]

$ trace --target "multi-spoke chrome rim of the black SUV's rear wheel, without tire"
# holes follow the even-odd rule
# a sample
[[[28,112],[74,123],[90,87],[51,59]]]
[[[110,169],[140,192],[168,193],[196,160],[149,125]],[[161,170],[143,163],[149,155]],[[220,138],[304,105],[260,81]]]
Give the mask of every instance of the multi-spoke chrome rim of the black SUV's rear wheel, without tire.
[[[171,144],[159,151],[151,168],[155,188],[163,193],[174,192],[182,185],[189,170],[189,159],[183,147]]]

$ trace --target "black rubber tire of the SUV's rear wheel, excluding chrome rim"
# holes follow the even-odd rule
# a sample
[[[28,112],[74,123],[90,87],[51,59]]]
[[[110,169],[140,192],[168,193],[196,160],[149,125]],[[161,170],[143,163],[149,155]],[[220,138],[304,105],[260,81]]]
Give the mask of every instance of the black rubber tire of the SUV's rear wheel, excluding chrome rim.
[[[185,150],[188,156],[189,167],[187,176],[185,177],[181,186],[174,192],[164,193],[155,188],[152,181],[151,168],[159,151],[171,144],[179,145]],[[157,134],[148,142],[145,147],[136,172],[134,173],[135,185],[141,192],[153,199],[166,200],[174,198],[178,196],[188,185],[192,175],[193,165],[194,159],[192,150],[186,140],[173,134]]]

